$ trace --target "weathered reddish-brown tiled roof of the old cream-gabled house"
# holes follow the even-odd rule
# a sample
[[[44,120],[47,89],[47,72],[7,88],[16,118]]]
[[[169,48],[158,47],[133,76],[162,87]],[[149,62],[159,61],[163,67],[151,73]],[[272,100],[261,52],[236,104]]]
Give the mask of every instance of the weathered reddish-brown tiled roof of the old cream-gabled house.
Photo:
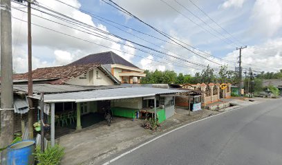
[[[87,65],[74,65],[74,66],[62,66],[62,67],[44,67],[38,68],[32,71],[32,79],[55,79],[51,84],[64,84],[67,80],[75,78],[81,74],[84,74],[95,67],[100,67],[100,64],[87,64]],[[14,74],[14,80],[27,80],[28,73],[26,74]]]

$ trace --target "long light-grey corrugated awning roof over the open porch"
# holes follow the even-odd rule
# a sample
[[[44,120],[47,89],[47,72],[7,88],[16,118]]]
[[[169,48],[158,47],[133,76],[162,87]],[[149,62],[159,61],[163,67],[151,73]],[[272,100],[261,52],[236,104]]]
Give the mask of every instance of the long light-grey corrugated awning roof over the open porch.
[[[121,98],[140,98],[146,96],[155,96],[156,94],[173,94],[178,92],[187,91],[152,87],[126,87],[95,91],[79,91],[64,94],[46,94],[44,95],[44,102],[88,102]],[[33,96],[32,98],[39,99],[40,96]]]

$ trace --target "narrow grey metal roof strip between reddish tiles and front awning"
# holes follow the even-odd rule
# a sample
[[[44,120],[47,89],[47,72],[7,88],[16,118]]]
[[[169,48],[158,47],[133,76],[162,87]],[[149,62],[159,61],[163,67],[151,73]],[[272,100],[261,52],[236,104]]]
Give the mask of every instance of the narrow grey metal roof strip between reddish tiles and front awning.
[[[15,91],[23,91],[28,93],[28,85],[14,85]],[[88,90],[98,90],[98,89],[112,89],[121,87],[120,85],[108,85],[108,86],[77,86],[77,85],[51,85],[51,84],[34,84],[33,93],[41,94],[56,94],[56,93],[66,93],[74,91],[88,91]]]

